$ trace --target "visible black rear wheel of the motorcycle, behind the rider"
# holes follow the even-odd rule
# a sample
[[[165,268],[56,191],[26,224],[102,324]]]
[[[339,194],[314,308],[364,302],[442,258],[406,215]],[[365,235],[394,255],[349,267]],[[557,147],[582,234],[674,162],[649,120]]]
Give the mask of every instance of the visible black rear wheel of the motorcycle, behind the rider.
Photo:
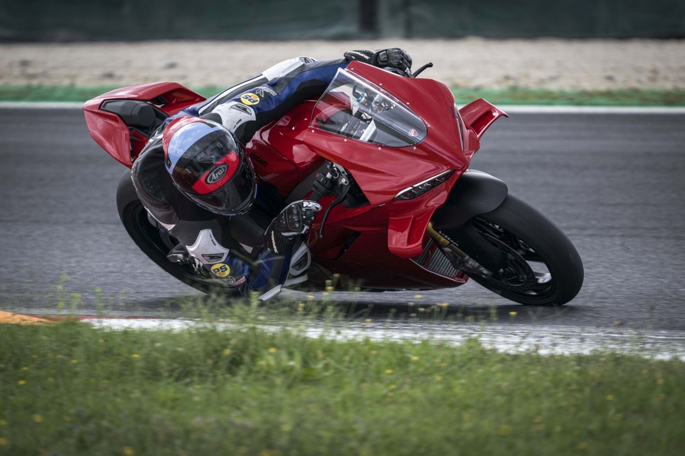
[[[184,284],[208,294],[223,296],[238,296],[240,293],[237,288],[222,284],[211,283],[197,275],[197,272],[186,264],[177,264],[170,261],[166,255],[173,248],[173,241],[168,236],[164,236],[160,230],[154,226],[148,218],[148,213],[138,199],[131,172],[125,172],[119,181],[117,188],[117,208],[119,218],[122,220],[126,232],[131,236],[135,244],[152,261],[173,275]]]

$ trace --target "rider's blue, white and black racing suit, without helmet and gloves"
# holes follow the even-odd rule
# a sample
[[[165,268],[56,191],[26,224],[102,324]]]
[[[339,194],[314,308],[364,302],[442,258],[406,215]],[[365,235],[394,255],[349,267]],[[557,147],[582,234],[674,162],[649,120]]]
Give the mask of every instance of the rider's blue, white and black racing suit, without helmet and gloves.
[[[252,79],[186,108],[166,119],[166,123],[181,116],[202,117],[222,123],[238,141],[247,143],[257,130],[280,119],[299,103],[320,97],[338,69],[348,63],[346,59],[316,61],[309,57],[282,61]],[[196,137],[188,138],[189,143],[195,140]],[[210,277],[237,287],[242,293],[257,290],[264,299],[277,295],[283,284],[306,279],[311,260],[303,242],[287,252],[262,249],[258,254],[253,253],[251,260],[246,259],[245,252],[236,255],[240,246],[235,245],[233,239],[226,239],[217,218],[198,212],[186,198],[176,195],[174,188],[164,186],[168,179],[158,173],[155,175],[158,166],[162,166],[157,164],[162,161],[161,150],[149,149],[142,152],[133,169],[139,197],[160,226],[166,227],[180,241],[198,268]],[[182,148],[178,152],[173,148],[168,150],[172,167]]]

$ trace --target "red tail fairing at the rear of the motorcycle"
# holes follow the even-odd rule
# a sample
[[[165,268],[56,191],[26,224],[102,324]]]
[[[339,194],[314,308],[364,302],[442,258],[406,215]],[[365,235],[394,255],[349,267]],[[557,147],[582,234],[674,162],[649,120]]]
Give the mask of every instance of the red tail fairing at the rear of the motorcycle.
[[[147,139],[139,131],[128,128],[118,115],[101,110],[102,103],[108,100],[148,101],[166,115],[174,115],[204,101],[204,97],[179,83],[159,82],[112,90],[86,101],[84,115],[90,136],[109,155],[131,168],[133,159],[145,146]]]

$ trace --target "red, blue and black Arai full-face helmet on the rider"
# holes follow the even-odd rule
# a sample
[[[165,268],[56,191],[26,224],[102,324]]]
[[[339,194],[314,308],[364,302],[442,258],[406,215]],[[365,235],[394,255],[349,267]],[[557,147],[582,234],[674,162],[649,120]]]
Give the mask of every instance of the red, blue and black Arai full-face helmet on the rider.
[[[177,117],[162,135],[164,165],[174,185],[198,206],[220,215],[249,211],[257,189],[252,163],[220,123]]]

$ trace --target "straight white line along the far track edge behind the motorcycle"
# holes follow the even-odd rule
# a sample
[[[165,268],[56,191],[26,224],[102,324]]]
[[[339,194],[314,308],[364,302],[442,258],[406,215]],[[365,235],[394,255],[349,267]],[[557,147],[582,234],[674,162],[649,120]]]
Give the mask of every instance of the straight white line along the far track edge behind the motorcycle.
[[[57,101],[0,101],[0,109],[81,109],[84,103]],[[536,106],[497,105],[508,114],[685,114],[685,106]]]

